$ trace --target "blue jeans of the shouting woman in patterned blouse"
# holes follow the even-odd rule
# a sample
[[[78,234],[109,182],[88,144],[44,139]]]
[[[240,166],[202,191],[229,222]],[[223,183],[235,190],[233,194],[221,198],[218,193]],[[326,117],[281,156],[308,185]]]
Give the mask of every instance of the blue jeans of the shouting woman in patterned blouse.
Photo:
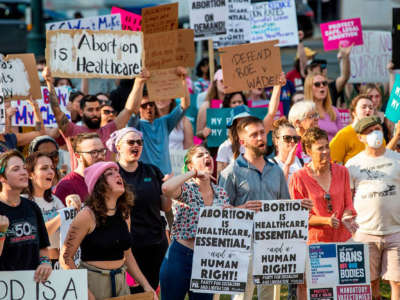
[[[189,291],[192,275],[193,250],[173,241],[165,254],[160,270],[162,300],[212,300],[213,294]]]

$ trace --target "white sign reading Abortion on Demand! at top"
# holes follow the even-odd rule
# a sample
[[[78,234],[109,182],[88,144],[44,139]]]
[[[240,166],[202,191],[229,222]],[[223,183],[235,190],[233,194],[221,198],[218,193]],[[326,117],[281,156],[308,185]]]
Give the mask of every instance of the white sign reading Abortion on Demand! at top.
[[[196,41],[227,34],[228,6],[225,0],[190,0],[190,28]]]

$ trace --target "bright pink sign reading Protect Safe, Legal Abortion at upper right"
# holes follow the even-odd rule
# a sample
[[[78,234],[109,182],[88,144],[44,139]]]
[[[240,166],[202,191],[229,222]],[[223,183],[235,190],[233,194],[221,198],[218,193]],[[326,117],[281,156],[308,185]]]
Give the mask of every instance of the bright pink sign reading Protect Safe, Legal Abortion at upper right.
[[[323,23],[320,27],[325,51],[363,44],[360,18]]]

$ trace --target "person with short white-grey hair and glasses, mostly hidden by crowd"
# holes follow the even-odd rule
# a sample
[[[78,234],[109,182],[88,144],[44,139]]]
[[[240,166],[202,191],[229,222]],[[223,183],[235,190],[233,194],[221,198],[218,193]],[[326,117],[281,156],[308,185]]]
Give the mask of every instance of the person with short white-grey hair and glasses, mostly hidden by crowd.
[[[306,130],[311,127],[318,127],[319,114],[315,103],[310,100],[304,100],[293,104],[289,111],[289,123],[294,126],[297,134],[302,137]],[[310,162],[310,157],[305,154],[301,148],[301,143],[296,149],[296,156],[302,159],[304,163]]]

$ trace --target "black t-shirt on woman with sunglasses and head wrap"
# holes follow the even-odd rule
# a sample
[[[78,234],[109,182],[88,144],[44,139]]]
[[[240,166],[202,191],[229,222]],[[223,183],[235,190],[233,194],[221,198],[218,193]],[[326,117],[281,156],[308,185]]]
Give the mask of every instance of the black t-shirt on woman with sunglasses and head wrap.
[[[139,162],[135,172],[127,172],[120,166],[120,174],[135,195],[131,211],[133,247],[160,243],[166,238],[160,215],[163,173],[153,165]]]

